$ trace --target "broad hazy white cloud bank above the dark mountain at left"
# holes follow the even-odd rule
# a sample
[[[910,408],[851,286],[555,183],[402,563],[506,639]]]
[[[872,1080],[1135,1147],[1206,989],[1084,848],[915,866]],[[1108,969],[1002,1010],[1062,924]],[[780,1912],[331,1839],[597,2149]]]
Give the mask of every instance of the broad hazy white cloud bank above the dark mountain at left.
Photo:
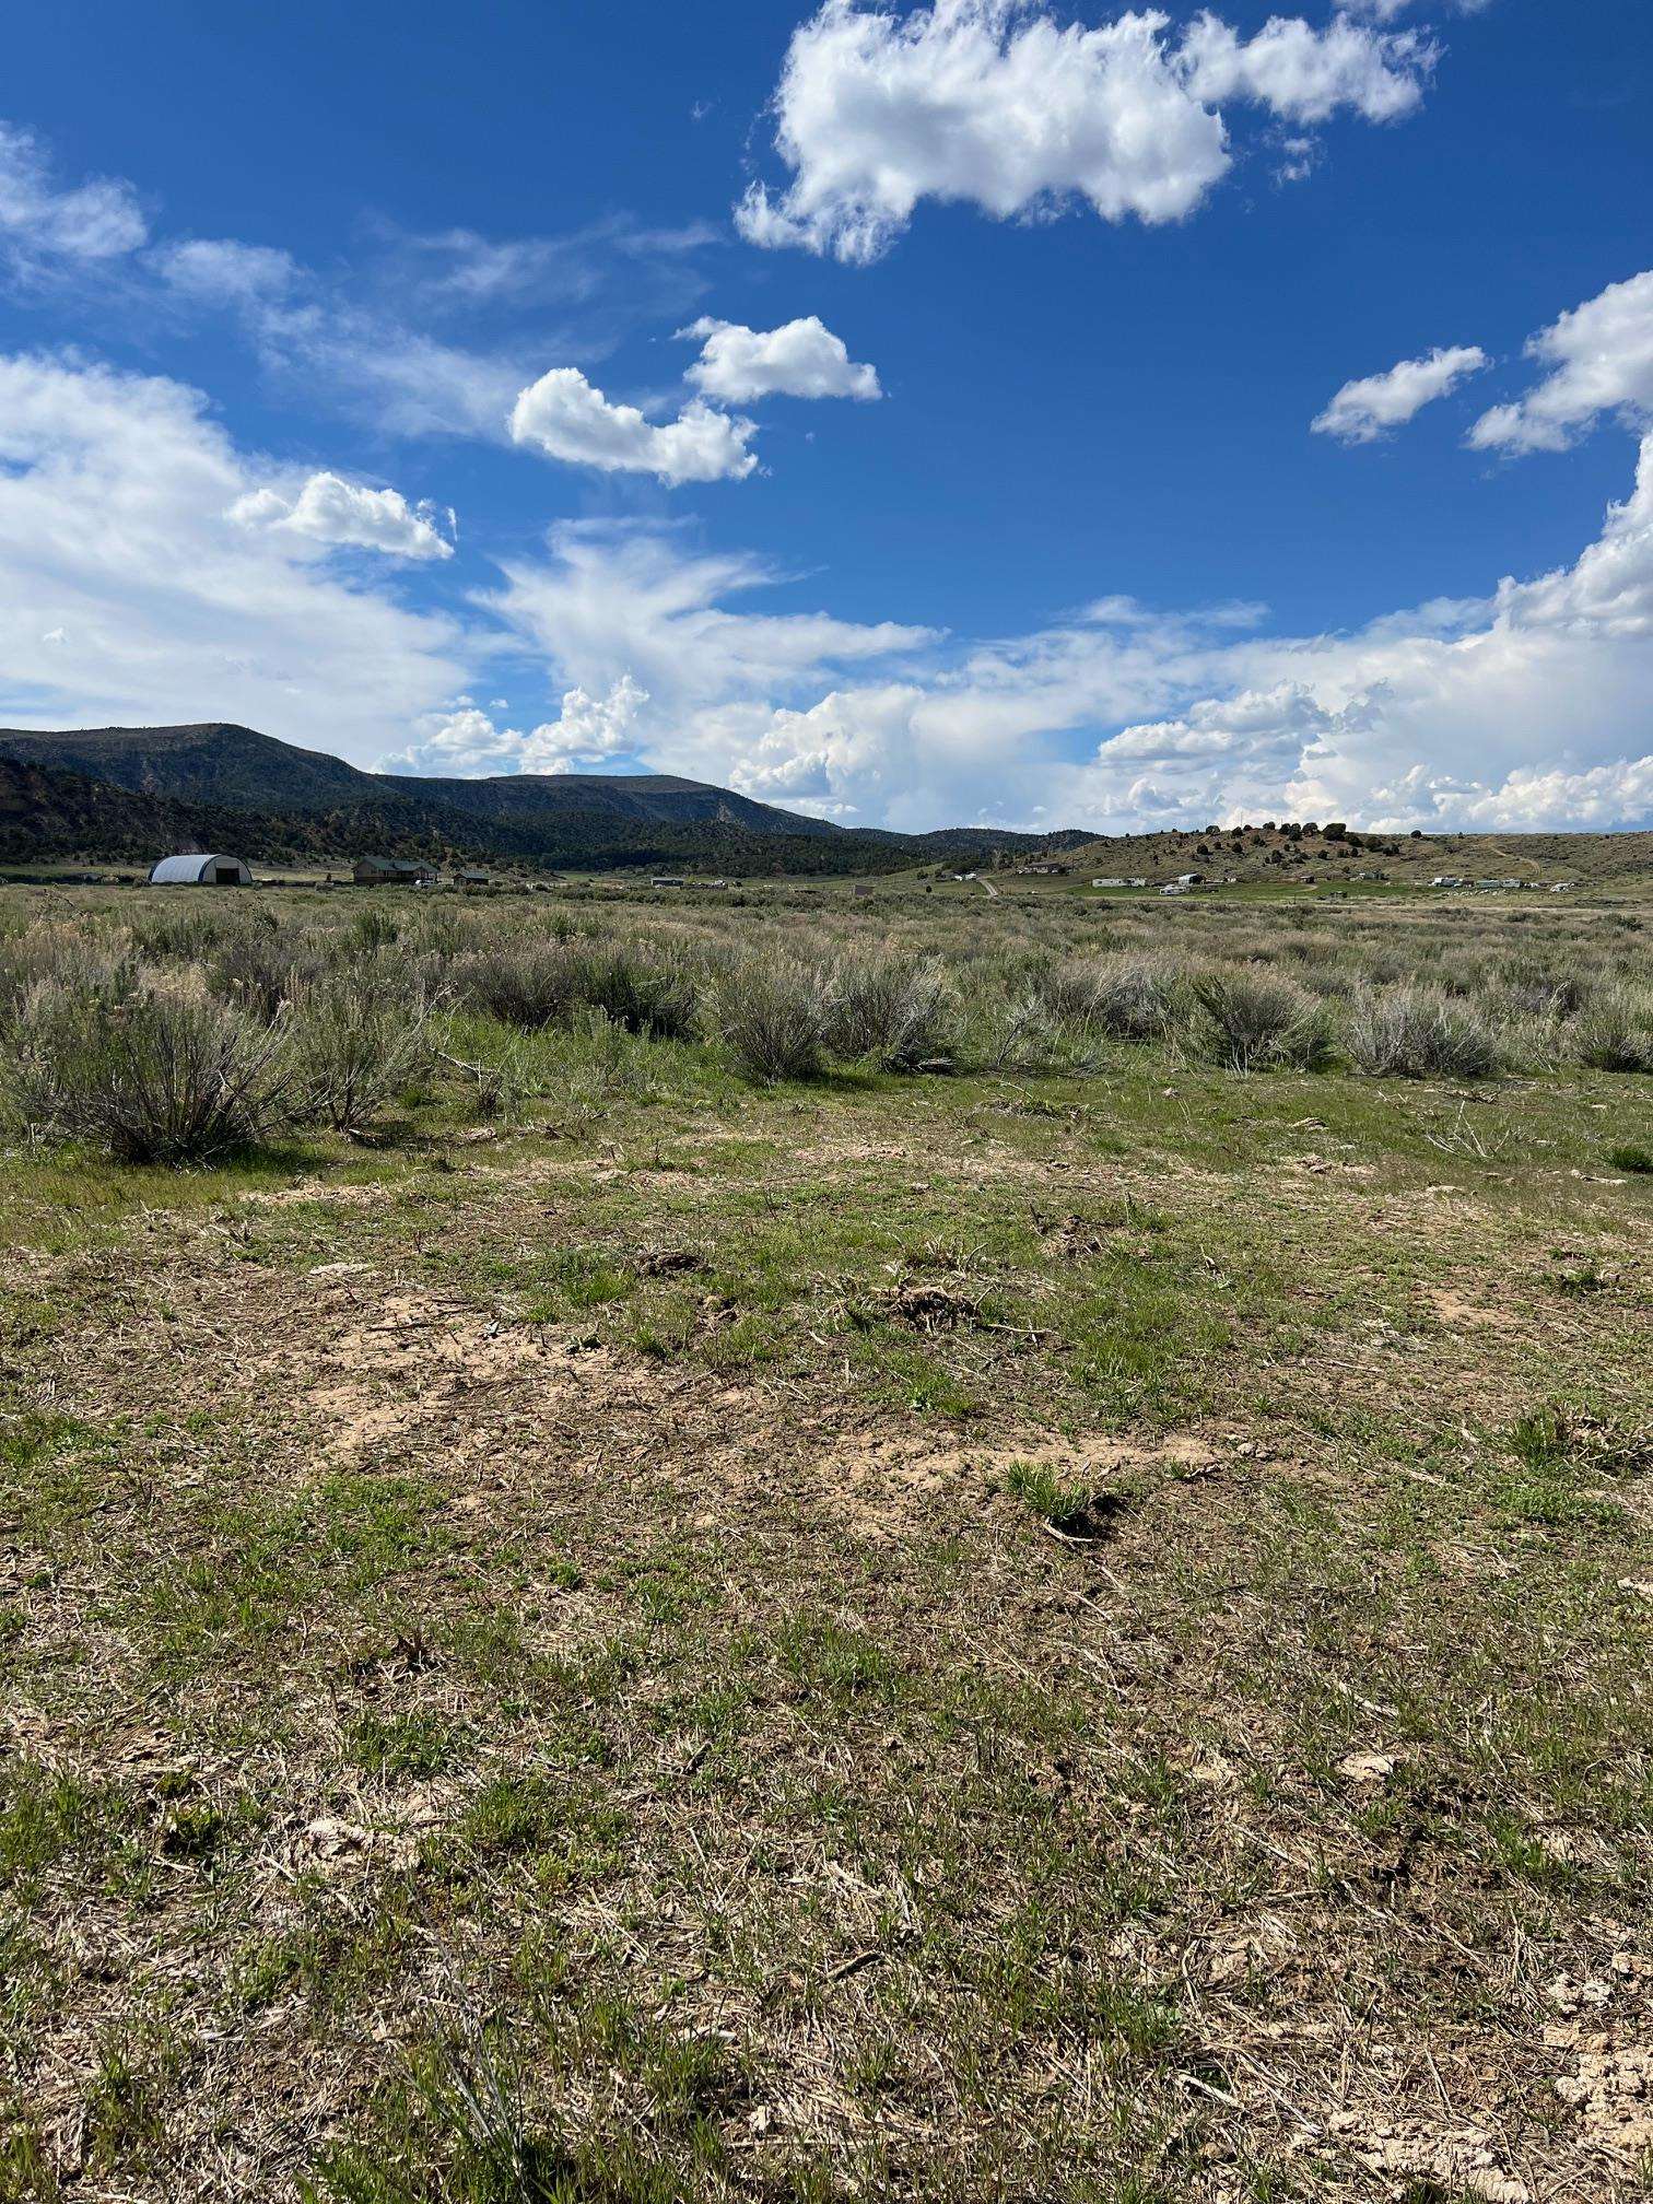
[[[458,692],[487,637],[231,518],[276,469],[201,392],[0,355],[0,666],[18,725],[220,714],[370,758]]]

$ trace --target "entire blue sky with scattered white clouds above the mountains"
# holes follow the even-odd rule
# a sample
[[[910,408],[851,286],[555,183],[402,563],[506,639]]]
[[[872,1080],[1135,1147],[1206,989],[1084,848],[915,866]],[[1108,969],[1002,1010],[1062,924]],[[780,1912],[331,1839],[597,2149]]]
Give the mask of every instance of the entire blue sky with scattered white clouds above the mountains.
[[[11,33],[7,723],[899,827],[1653,820],[1635,0]]]

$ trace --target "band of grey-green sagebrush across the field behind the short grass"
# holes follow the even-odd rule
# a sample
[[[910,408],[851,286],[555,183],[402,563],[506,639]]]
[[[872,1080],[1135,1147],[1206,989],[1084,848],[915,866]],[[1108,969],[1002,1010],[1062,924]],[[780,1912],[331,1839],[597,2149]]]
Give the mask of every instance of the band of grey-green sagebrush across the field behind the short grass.
[[[1175,934],[1157,912],[939,934],[917,906],[873,939],[802,897],[743,906],[738,932],[723,912],[55,904],[0,923],[0,1104],[29,1137],[198,1162],[284,1124],[359,1139],[432,1076],[489,1117],[540,1098],[577,1122],[657,1091],[668,1062],[752,1082],[833,1062],[1095,1073],[1139,1049],[1234,1073],[1653,1073],[1640,919],[1587,937],[1525,919],[1468,937],[1195,908]]]

